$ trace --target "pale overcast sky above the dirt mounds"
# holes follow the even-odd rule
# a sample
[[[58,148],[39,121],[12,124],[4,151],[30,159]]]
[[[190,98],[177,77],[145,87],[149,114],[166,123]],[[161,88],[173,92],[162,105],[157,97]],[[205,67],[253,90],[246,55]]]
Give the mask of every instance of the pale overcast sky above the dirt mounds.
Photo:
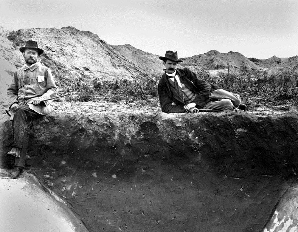
[[[72,26],[162,56],[166,50],[179,57],[209,50],[260,59],[298,55],[296,0],[0,0],[0,26]]]

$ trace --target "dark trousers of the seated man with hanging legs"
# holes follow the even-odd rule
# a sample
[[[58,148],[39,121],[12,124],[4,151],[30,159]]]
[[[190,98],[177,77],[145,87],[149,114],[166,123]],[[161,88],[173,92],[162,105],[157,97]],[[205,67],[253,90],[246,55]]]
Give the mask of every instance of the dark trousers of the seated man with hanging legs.
[[[13,145],[14,147],[18,147],[21,149],[20,157],[15,157],[15,166],[24,167],[27,147],[28,147],[28,139],[29,139],[29,125],[33,119],[41,117],[40,114],[36,113],[29,106],[23,106],[18,108],[15,111],[15,115],[13,117]]]

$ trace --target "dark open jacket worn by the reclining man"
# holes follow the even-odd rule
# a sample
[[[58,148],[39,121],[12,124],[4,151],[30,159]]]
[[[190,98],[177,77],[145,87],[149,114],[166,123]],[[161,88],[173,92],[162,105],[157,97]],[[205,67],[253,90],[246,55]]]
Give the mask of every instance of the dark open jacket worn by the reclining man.
[[[193,100],[197,104],[197,108],[202,108],[208,103],[209,93],[215,89],[220,89],[217,85],[208,84],[201,78],[198,78],[194,72],[189,69],[176,69],[177,74],[180,77],[181,83],[183,83],[188,89],[197,93],[198,96]],[[166,73],[162,75],[158,83],[158,95],[159,102],[162,108],[162,112],[165,113],[183,113],[186,112],[184,109],[185,103],[174,88],[173,82],[168,80]],[[172,103],[175,103],[172,104]]]

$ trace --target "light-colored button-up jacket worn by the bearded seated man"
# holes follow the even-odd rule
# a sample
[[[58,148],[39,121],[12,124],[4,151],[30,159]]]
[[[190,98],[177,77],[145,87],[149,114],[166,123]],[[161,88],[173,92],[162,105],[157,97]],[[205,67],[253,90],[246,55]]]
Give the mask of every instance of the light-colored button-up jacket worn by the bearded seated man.
[[[40,63],[35,63],[31,67],[24,65],[13,75],[12,83],[7,89],[7,102],[9,108],[13,103],[18,103],[20,106],[28,104],[30,109],[38,114],[46,115],[51,112],[52,100],[40,105],[31,103],[36,98],[45,100],[56,97],[57,92],[58,89],[49,68]]]

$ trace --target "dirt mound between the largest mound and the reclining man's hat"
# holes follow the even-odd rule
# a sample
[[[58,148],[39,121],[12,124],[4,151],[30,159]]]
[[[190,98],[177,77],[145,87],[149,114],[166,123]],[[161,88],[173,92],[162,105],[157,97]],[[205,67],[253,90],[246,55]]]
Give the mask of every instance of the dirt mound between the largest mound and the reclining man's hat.
[[[160,78],[163,73],[163,64],[158,55],[139,50],[130,44],[111,45],[117,52],[122,54],[128,61],[134,63],[140,69],[150,75]]]

